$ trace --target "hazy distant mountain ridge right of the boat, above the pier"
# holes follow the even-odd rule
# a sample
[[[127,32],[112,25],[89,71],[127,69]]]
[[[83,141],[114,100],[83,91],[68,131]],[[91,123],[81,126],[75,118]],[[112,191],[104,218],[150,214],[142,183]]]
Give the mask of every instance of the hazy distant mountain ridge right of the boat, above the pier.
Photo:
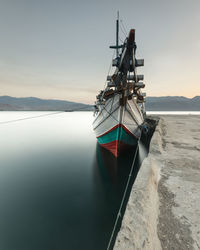
[[[186,98],[184,96],[147,97],[147,111],[200,111],[200,96]]]

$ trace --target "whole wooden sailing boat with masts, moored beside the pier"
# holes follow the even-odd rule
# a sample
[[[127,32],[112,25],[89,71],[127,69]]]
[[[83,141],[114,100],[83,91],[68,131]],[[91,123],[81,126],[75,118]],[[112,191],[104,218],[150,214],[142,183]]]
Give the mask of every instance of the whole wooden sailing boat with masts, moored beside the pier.
[[[135,30],[131,29],[119,45],[119,15],[116,21],[116,58],[112,61],[115,71],[107,76],[107,86],[97,95],[93,129],[98,143],[118,157],[128,146],[137,144],[144,123],[145,107],[141,89],[145,87],[143,75],[137,67],[144,65],[136,59]]]

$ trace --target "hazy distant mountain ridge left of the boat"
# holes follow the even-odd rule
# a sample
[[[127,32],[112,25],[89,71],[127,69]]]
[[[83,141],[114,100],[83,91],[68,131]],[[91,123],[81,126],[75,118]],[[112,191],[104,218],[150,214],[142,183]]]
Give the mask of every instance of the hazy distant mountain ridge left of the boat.
[[[92,110],[92,105],[61,100],[44,100],[35,97],[16,98],[0,96],[0,110],[56,111]]]

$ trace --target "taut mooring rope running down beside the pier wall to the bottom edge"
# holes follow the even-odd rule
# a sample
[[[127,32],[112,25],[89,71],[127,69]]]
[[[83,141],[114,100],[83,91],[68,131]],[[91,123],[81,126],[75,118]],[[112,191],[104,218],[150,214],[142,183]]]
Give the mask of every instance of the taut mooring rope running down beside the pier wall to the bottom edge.
[[[141,138],[141,136],[140,136],[140,138]],[[117,227],[117,223],[118,223],[119,218],[121,217],[121,210],[122,210],[122,207],[124,205],[124,200],[125,200],[125,197],[126,197],[128,186],[129,186],[129,183],[130,183],[130,180],[131,180],[131,177],[132,177],[132,173],[133,173],[133,168],[134,168],[134,165],[135,165],[135,160],[136,160],[137,152],[138,152],[138,149],[139,149],[140,138],[138,140],[138,144],[137,144],[137,148],[136,148],[136,151],[135,151],[133,163],[132,163],[131,170],[130,170],[130,173],[129,173],[129,176],[128,176],[128,180],[127,180],[126,187],[125,187],[125,190],[124,190],[124,194],[123,194],[123,197],[122,197],[122,201],[121,201],[121,204],[120,204],[120,207],[119,207],[117,218],[115,220],[115,224],[114,224],[111,236],[110,236],[110,240],[108,242],[107,250],[110,250],[111,243],[112,243],[112,240],[113,240],[113,237],[114,237],[114,233],[115,233],[115,230],[116,230],[116,227]]]

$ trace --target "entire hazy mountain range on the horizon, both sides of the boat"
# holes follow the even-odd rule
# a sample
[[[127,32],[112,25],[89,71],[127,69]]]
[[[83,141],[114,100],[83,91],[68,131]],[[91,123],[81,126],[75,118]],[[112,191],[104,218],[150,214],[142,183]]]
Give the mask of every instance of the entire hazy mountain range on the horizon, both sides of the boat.
[[[56,111],[56,110],[93,110],[92,105],[62,100],[44,100],[35,97],[16,98],[0,96],[0,110]],[[200,96],[147,97],[147,111],[200,111]]]

